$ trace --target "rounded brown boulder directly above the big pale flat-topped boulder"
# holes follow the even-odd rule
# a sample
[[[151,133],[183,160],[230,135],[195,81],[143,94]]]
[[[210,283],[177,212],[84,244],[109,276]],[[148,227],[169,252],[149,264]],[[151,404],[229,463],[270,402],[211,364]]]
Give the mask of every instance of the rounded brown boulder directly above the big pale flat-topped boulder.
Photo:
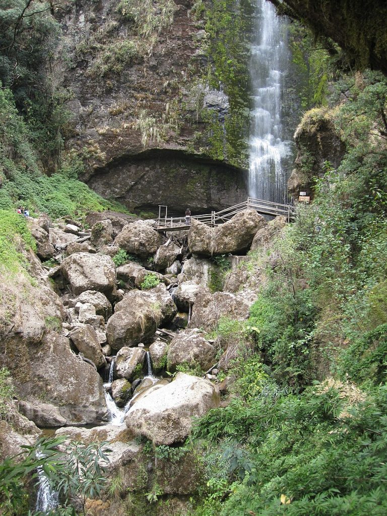
[[[191,366],[200,365],[200,368],[206,371],[214,365],[216,351],[216,348],[206,341],[203,333],[180,332],[169,343],[168,371],[173,373],[176,366],[183,363]]]

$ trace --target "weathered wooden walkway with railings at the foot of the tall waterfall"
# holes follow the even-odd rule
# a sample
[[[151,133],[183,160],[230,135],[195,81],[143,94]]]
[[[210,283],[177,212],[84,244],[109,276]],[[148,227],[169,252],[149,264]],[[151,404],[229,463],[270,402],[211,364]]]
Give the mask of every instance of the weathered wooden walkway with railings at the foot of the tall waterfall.
[[[167,208],[167,206],[164,206]],[[262,199],[252,199],[248,197],[247,201],[235,204],[229,208],[222,209],[220,212],[211,212],[205,215],[193,215],[191,219],[200,220],[214,228],[218,224],[223,224],[230,220],[234,215],[245,209],[255,209],[262,215],[284,215],[288,222],[293,220],[296,215],[296,208],[291,204],[280,204],[277,202],[264,201]],[[155,220],[153,228],[159,232],[166,231],[184,231],[190,228],[185,222],[185,217],[160,217]]]

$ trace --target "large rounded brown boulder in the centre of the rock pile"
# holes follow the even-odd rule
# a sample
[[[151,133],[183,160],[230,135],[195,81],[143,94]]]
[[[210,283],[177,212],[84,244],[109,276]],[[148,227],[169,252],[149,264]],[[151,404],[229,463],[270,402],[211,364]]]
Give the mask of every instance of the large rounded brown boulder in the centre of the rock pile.
[[[116,350],[146,342],[157,326],[171,320],[175,313],[175,304],[165,285],[158,285],[151,291],[128,292],[116,304],[115,313],[107,322],[107,342]]]

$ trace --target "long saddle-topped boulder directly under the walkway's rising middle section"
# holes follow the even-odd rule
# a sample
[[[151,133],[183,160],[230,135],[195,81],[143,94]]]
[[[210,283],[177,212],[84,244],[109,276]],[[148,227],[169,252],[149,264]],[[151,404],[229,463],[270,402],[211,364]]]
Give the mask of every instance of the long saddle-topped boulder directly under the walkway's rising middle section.
[[[191,253],[199,256],[240,253],[249,249],[255,233],[265,225],[265,219],[255,209],[237,213],[215,228],[192,219],[188,247]]]

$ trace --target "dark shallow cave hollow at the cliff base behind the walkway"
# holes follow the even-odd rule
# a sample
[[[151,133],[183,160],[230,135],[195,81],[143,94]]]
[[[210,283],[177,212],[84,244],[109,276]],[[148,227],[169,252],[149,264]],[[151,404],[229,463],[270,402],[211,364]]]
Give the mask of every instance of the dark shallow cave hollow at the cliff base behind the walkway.
[[[168,205],[170,215],[184,215],[187,206],[192,213],[208,213],[248,196],[241,170],[180,151],[121,157],[118,163],[96,169],[87,183],[138,214],[157,215],[158,204]]]

